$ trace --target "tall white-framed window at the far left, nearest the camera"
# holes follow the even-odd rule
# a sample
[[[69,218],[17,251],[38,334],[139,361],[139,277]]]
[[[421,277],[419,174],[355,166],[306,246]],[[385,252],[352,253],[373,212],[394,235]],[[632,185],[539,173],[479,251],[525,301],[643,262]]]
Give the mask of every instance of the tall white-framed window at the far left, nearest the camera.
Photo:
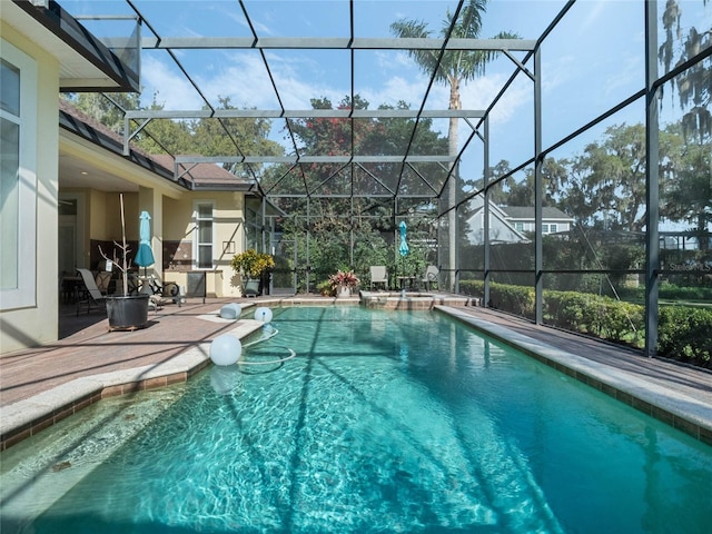
[[[7,41],[0,59],[0,307],[36,304],[37,63]],[[21,239],[22,237],[22,239]]]

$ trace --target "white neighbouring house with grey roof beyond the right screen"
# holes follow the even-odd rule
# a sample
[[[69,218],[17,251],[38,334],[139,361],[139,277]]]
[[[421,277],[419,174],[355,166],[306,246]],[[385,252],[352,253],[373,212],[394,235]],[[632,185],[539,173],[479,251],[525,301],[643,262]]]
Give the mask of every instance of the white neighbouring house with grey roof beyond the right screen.
[[[485,209],[481,197],[473,199],[473,215],[467,219],[472,245],[484,245]],[[543,234],[568,231],[574,219],[558,208],[543,208]],[[490,205],[490,243],[528,243],[534,231],[534,208]]]

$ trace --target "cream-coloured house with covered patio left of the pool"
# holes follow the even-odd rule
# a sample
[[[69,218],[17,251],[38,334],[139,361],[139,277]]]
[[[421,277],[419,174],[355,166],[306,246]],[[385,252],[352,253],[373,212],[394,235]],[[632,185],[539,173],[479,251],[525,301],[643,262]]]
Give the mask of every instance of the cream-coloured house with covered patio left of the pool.
[[[208,294],[240,295],[230,259],[263,231],[253,184],[215,165],[123,156],[119,136],[61,100],[138,90],[139,76],[56,2],[3,0],[0,36],[0,352],[57,340],[61,273],[97,269],[98,245],[121,240],[120,194],[129,243],[139,214],[151,216],[148,274],[186,286],[206,273]]]

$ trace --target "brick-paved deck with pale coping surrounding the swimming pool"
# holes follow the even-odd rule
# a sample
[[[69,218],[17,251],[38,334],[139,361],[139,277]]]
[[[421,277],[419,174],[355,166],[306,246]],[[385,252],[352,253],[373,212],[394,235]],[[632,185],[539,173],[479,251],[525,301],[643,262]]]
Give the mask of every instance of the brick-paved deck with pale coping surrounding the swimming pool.
[[[243,337],[261,327],[250,319],[221,319],[220,307],[234,301],[244,309],[360,304],[358,296],[190,299],[149,312],[148,326],[134,332],[109,332],[102,309],[77,317],[73,306],[62,307],[59,342],[0,356],[0,449],[101,398],[184,382],[206,368],[211,339],[226,333]],[[462,298],[412,301],[397,309],[435,307],[712,445],[710,372],[536,326]]]

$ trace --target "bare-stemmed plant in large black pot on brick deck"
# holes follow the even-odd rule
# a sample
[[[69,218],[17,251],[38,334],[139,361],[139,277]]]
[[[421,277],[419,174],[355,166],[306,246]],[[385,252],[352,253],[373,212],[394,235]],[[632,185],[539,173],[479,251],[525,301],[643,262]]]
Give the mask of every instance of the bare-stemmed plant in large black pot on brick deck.
[[[144,328],[148,324],[148,294],[129,295],[129,268],[131,261],[128,259],[130,251],[126,244],[126,221],[123,218],[123,195],[119,195],[121,204],[121,244],[113,241],[116,248],[121,250],[120,260],[117,258],[116,249],[113,250],[113,259],[110,259],[101,247],[99,254],[107,261],[112,261],[121,271],[122,291],[120,295],[107,296],[107,317],[109,319],[110,330],[134,330]]]

